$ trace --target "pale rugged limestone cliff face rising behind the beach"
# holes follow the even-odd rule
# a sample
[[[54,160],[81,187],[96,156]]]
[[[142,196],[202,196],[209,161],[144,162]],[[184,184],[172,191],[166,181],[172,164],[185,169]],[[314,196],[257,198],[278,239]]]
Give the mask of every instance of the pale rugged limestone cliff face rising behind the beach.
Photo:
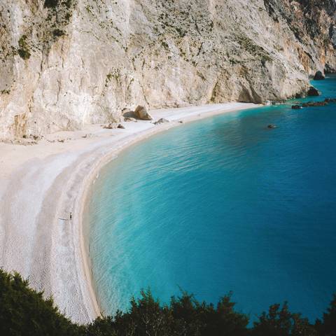
[[[0,138],[264,102],[336,69],[335,0],[1,0]]]

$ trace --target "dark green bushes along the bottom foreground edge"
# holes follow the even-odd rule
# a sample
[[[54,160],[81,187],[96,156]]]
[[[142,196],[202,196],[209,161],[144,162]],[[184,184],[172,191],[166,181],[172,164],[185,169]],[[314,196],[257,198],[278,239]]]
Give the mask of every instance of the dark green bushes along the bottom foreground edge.
[[[0,335],[80,335],[80,336],[336,336],[336,295],[322,321],[311,325],[293,314],[285,303],[274,304],[253,328],[248,316],[235,311],[230,295],[216,306],[198,302],[193,295],[172,297],[169,305],[154,300],[151,292],[132,299],[130,310],[116,316],[97,318],[89,325],[76,325],[28,286],[19,274],[0,269]]]

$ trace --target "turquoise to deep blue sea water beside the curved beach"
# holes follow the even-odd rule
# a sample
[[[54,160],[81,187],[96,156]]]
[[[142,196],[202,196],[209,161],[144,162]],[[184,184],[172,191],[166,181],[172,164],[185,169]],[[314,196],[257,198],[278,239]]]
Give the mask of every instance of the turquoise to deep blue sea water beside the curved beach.
[[[314,85],[336,97],[335,77]],[[104,311],[127,309],[150,286],[164,302],[179,288],[208,302],[233,290],[251,318],[288,300],[314,321],[336,291],[335,146],[336,104],[283,105],[182,125],[124,151],[88,207]]]

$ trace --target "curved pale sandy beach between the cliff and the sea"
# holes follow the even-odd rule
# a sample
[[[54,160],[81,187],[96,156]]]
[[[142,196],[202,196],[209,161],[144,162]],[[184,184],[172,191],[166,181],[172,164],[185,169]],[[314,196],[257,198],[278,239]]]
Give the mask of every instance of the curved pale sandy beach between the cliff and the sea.
[[[182,125],[180,120],[186,123],[255,107],[228,103],[160,109],[151,111],[154,120],[165,118],[170,123],[123,123],[125,130],[90,125],[50,134],[34,146],[0,144],[0,267],[29,277],[31,285],[52,295],[73,321],[92,321],[99,315],[99,303],[83,213],[99,170],[132,144]]]

